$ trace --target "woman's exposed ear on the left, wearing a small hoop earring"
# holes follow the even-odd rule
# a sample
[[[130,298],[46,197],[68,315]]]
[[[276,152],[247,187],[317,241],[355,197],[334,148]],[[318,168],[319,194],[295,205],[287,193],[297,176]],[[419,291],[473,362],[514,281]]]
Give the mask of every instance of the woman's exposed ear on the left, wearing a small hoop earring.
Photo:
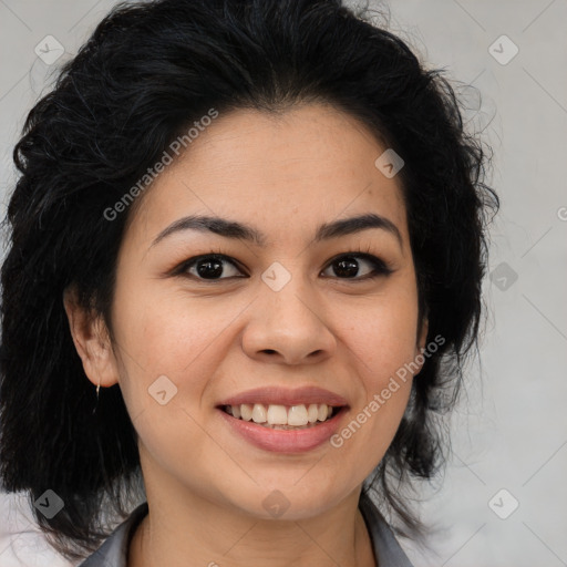
[[[93,315],[79,305],[74,286],[64,290],[63,306],[76,352],[83,361],[89,380],[94,385],[105,388],[117,383],[117,364],[102,315]]]

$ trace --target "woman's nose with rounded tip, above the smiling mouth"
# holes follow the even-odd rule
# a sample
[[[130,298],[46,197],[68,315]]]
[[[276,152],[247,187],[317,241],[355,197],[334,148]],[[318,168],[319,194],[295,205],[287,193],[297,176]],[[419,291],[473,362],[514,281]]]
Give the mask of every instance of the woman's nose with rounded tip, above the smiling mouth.
[[[337,341],[322,302],[299,277],[279,291],[264,282],[243,333],[243,349],[255,360],[312,364],[331,357]]]

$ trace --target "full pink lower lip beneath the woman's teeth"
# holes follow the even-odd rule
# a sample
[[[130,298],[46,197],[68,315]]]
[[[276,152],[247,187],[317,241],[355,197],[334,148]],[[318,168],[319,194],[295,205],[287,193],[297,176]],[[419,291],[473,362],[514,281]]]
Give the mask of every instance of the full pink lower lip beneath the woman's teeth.
[[[348,406],[343,406],[330,420],[305,430],[272,430],[251,421],[238,420],[218,409],[234,432],[252,445],[276,453],[303,453],[322,445],[337,432],[347,410]]]

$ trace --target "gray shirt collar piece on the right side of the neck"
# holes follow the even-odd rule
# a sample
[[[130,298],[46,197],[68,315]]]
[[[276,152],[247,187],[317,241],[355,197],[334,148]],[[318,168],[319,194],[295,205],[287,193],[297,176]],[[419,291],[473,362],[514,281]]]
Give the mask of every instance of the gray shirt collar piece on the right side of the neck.
[[[372,539],[374,555],[379,565],[388,567],[413,567],[410,559],[398,543],[391,527],[384,519],[370,496],[361,493],[359,508]]]

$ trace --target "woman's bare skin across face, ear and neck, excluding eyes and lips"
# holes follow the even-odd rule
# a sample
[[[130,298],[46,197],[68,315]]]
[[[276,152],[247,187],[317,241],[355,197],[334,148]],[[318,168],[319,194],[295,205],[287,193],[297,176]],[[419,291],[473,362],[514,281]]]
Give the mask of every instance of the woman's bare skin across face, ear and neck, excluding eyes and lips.
[[[378,565],[358,501],[399,426],[411,377],[338,449],[267,452],[233,433],[215,406],[258,386],[318,385],[348,400],[342,427],[424,347],[401,187],[374,166],[384,150],[329,105],[221,114],[130,212],[115,342],[65,293],[86,375],[120,384],[138,434],[150,514],[130,567]],[[391,220],[401,241],[380,228],[313,241],[320,224],[368,213]],[[266,246],[196,230],[152,246],[189,214],[251,225]],[[392,274],[363,280],[372,265],[359,258],[359,272],[337,275],[333,257],[360,250]],[[224,264],[225,279],[199,280],[195,267],[193,277],[169,274],[213,251],[238,261]],[[260,277],[275,261],[291,275],[280,291]],[[177,386],[165,405],[147,392],[163,374]],[[275,489],[289,502],[279,518],[262,506]]]

